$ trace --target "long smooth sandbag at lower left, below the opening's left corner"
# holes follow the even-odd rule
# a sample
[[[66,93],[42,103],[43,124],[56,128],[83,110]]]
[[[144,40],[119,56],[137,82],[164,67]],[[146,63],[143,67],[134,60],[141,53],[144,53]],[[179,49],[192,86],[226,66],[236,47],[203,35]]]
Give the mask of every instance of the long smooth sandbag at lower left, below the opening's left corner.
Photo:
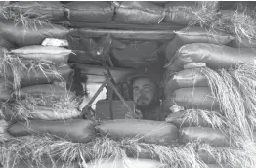
[[[15,137],[49,133],[74,143],[88,143],[95,138],[95,123],[91,120],[69,119],[60,121],[29,120],[10,125],[7,131]]]

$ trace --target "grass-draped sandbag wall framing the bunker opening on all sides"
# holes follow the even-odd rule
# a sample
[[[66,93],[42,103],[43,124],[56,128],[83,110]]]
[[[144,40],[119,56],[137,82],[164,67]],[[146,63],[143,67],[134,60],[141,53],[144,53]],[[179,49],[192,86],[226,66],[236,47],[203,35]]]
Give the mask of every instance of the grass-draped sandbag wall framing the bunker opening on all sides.
[[[40,16],[43,19],[42,22],[34,20],[32,25],[22,22],[14,23],[10,20],[12,16],[9,16],[9,20],[3,18],[0,21],[1,39],[4,41],[1,56],[5,58],[5,62],[3,62],[5,66],[2,66],[1,69],[3,81],[4,83],[8,80],[11,80],[11,83],[14,83],[14,79],[16,81],[15,86],[11,85],[11,87],[3,89],[6,92],[3,101],[8,100],[8,103],[4,105],[3,115],[11,122],[13,120],[31,122],[54,120],[49,121],[49,125],[54,125],[57,120],[73,118],[79,114],[79,111],[76,110],[78,102],[73,99],[72,93],[69,93],[65,87],[66,76],[69,76],[71,71],[66,66],[67,56],[71,51],[64,47],[41,45],[46,38],[67,39],[67,34],[72,30],[60,25],[49,25],[48,21],[66,18],[68,21],[89,23],[116,21],[151,25],[166,22],[187,25],[196,18],[194,11],[197,11],[197,5],[195,2],[168,2],[166,4],[38,2],[36,5],[33,3],[32,7],[30,2],[10,4],[8,10],[14,12],[14,16],[19,13],[25,17],[30,16],[31,19],[37,19],[37,21],[40,21]],[[214,8],[214,6],[209,8]],[[231,18],[231,16],[227,16],[227,18]],[[83,34],[83,30],[78,32],[80,35]],[[84,30],[84,32],[88,31]],[[106,35],[104,32],[106,31],[103,31],[102,35]],[[96,36],[98,37],[99,34]],[[246,47],[248,43],[246,44],[245,41],[240,45],[237,43],[237,36],[223,31],[187,27],[176,31],[175,34],[175,38],[167,44],[165,49],[166,59],[169,63],[165,65],[164,107],[165,110],[171,109],[174,112],[166,118],[166,122],[114,120],[96,124],[88,120],[69,119],[65,126],[68,134],[66,139],[57,138],[54,133],[53,137],[37,134],[21,136],[9,125],[9,133],[19,136],[6,141],[3,143],[4,146],[1,144],[2,164],[7,168],[13,167],[13,164],[18,167],[20,165],[39,167],[38,165],[41,164],[48,167],[62,167],[64,164],[68,165],[67,167],[97,167],[99,164],[103,166],[103,160],[107,158],[107,161],[104,161],[106,166],[117,165],[117,167],[122,167],[124,162],[125,165],[132,164],[134,166],[136,164],[137,167],[146,167],[146,165],[185,168],[255,167],[254,155],[253,152],[250,152],[253,147],[249,148],[250,146],[248,146],[246,151],[244,146],[240,145],[241,142],[236,142],[239,137],[246,136],[247,129],[244,129],[244,134],[235,134],[235,129],[230,130],[229,123],[224,122],[231,121],[234,128],[238,128],[237,130],[239,130],[239,126],[246,126],[243,125],[245,124],[243,120],[238,126],[239,122],[235,123],[235,121],[239,120],[232,120],[238,118],[238,108],[231,105],[233,108],[229,111],[235,109],[236,115],[235,117],[228,115],[232,112],[228,113],[224,104],[233,102],[231,100],[220,102],[220,99],[213,95],[212,85],[209,85],[209,81],[214,83],[215,78],[205,75],[208,71],[219,72],[223,68],[234,68],[240,62],[251,63],[254,61],[255,55],[253,50],[251,51],[250,48],[235,49],[235,46]],[[165,37],[162,36],[162,38]],[[83,39],[79,42],[82,45],[78,49],[89,51],[91,57],[97,57],[97,52],[93,50],[95,47],[100,46],[102,49],[101,45],[105,45],[108,47],[108,52],[109,44],[115,43],[117,47],[112,47],[109,52],[115,66],[137,68],[142,65],[150,66],[150,62],[154,63],[157,60],[155,51],[158,50],[158,44],[149,39],[140,42],[135,39],[130,39],[128,42],[127,39],[126,41],[119,39],[121,43],[119,40],[111,41],[108,36],[103,37],[99,43],[92,38]],[[7,44],[10,44],[10,47],[6,46]],[[71,49],[73,48],[71,47]],[[127,55],[131,53],[133,56]],[[144,55],[145,53],[147,55]],[[72,61],[77,60],[72,58]],[[83,63],[93,63],[90,59],[82,61]],[[12,63],[17,63],[20,66],[17,64],[12,66]],[[203,70],[206,68],[205,65],[209,67],[208,71]],[[6,69],[9,69],[11,74],[5,73]],[[17,73],[13,73],[14,71]],[[221,74],[224,72],[226,71]],[[244,90],[242,95],[246,94],[248,92]],[[254,92],[252,92],[253,94]],[[9,100],[10,98],[11,100]],[[12,100],[13,98],[16,99]],[[241,98],[243,97],[241,96]],[[237,97],[237,100],[240,98]],[[175,107],[178,107],[179,110],[176,110]],[[183,108],[184,110],[181,110]],[[12,113],[20,115],[14,117]],[[251,117],[254,116],[252,113],[249,113]],[[243,118],[244,115],[239,117]],[[77,127],[73,130],[73,122],[83,125],[82,129]],[[27,128],[29,128],[29,124],[27,124]],[[229,131],[235,136],[228,134]],[[236,144],[240,146],[237,147]],[[40,153],[38,154],[37,151]],[[42,160],[45,156],[49,157],[50,161]],[[126,156],[149,160],[127,160]],[[12,160],[12,158],[18,159]],[[13,162],[14,160],[15,162]],[[56,160],[61,160],[61,163],[57,161],[54,164]],[[116,162],[116,160],[118,161]],[[22,164],[20,164],[21,162]],[[77,162],[79,165],[74,164]]]

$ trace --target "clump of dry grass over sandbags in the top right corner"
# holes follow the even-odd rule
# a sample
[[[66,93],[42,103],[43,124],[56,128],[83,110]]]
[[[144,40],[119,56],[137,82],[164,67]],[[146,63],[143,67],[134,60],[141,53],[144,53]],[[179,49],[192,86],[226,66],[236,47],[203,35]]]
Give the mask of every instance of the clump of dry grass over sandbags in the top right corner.
[[[225,30],[235,37],[229,44],[233,48],[255,47],[254,31],[244,31],[254,27],[254,6],[245,4],[239,2],[229,6],[230,9],[222,8],[219,11],[220,18],[212,22],[213,28]]]

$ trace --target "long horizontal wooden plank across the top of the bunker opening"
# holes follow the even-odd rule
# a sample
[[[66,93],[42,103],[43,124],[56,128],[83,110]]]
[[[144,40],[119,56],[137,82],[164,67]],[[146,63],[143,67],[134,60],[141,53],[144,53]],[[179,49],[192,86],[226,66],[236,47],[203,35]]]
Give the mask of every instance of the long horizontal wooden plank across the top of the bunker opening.
[[[172,30],[112,30],[112,29],[89,29],[80,28],[72,30],[70,35],[85,37],[103,37],[106,34],[111,34],[115,39],[124,40],[153,40],[166,41],[174,38]]]

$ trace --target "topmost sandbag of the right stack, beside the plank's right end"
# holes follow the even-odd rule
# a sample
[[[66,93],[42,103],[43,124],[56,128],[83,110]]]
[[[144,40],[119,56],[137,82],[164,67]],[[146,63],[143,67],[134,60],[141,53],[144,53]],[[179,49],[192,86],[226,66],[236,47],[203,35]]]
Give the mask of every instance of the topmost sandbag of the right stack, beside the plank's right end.
[[[203,27],[189,26],[175,32],[175,38],[165,48],[165,55],[168,60],[172,59],[176,51],[185,44],[211,43],[225,45],[235,38],[226,32],[210,31]]]

